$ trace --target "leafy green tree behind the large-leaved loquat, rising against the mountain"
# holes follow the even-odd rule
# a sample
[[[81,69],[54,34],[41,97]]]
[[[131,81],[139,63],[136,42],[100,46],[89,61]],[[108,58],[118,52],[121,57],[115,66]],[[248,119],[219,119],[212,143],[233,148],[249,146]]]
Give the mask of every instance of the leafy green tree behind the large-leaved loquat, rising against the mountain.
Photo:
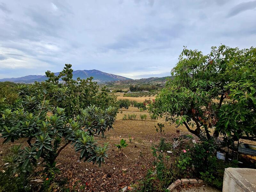
[[[76,116],[79,114],[80,108],[85,108],[91,104],[101,108],[117,107],[116,96],[108,94],[106,87],[100,91],[97,82],[92,81],[93,77],[87,79],[78,77],[74,80],[71,67],[71,64],[65,64],[58,76],[55,76],[51,71],[45,72],[48,77],[47,82],[52,82],[62,88],[62,93],[55,103],[59,107],[65,108],[68,116]]]

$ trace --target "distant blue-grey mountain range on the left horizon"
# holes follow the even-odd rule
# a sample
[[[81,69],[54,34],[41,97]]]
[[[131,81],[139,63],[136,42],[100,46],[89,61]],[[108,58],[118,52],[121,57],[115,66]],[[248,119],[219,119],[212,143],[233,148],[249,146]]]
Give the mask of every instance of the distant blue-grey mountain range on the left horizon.
[[[54,73],[56,76],[59,75],[60,72]],[[98,82],[106,82],[106,81],[118,81],[118,80],[130,80],[130,78],[105,73],[96,69],[92,70],[76,70],[73,71],[73,79],[80,77],[81,79],[87,79],[89,77],[93,77],[94,81]],[[11,81],[16,83],[33,83],[35,81],[45,81],[47,77],[45,75],[28,75],[17,78],[4,78],[0,79],[0,82]]]

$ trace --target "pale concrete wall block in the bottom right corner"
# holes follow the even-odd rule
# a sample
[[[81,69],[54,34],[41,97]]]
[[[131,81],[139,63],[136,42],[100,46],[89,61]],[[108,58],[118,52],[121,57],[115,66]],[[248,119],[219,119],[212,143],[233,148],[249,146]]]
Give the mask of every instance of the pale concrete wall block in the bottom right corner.
[[[256,170],[227,168],[224,172],[223,192],[256,192]]]

